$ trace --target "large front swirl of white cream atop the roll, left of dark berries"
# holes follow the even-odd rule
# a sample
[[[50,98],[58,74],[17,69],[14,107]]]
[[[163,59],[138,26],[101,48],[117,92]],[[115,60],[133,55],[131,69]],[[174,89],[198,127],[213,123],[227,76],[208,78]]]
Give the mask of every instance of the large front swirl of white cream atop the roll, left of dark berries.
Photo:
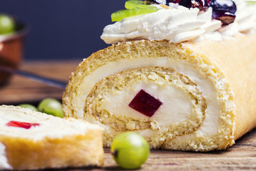
[[[199,9],[171,6],[169,9],[141,16],[129,17],[104,28],[101,38],[106,43],[134,39],[187,41],[207,31],[220,28],[220,21],[212,21],[212,10],[199,14]]]

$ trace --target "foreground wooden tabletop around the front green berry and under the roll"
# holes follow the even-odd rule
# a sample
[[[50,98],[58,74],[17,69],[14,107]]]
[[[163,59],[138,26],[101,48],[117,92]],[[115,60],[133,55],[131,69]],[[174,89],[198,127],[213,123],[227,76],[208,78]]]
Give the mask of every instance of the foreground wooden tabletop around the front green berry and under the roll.
[[[122,170],[105,149],[105,165],[97,170]],[[141,170],[256,170],[256,129],[227,150],[180,152],[152,150]]]

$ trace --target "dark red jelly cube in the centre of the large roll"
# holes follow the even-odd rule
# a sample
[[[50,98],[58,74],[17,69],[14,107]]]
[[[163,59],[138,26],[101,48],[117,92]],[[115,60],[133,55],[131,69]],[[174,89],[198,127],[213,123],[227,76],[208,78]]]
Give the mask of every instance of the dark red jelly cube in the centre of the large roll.
[[[160,100],[154,98],[152,95],[149,95],[149,93],[145,92],[144,90],[140,90],[131,103],[129,103],[129,107],[137,110],[143,115],[147,115],[148,117],[152,117],[160,105],[162,105]]]

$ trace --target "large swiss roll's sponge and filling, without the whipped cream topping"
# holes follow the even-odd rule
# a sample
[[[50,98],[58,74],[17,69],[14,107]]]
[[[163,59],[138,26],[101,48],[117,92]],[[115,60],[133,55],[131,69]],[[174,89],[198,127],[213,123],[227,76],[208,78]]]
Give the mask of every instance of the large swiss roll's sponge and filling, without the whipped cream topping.
[[[225,149],[255,126],[255,40],[109,46],[72,73],[64,114],[102,125],[105,147],[135,131],[152,148]]]

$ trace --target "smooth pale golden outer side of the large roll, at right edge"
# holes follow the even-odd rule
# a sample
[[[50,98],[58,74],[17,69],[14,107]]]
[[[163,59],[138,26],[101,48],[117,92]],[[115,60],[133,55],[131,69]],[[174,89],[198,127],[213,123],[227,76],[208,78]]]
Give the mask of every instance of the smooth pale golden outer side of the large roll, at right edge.
[[[235,140],[256,126],[256,44],[255,34],[240,34],[222,42],[187,43],[210,56],[222,71],[235,94]],[[218,49],[217,51],[215,49]]]

